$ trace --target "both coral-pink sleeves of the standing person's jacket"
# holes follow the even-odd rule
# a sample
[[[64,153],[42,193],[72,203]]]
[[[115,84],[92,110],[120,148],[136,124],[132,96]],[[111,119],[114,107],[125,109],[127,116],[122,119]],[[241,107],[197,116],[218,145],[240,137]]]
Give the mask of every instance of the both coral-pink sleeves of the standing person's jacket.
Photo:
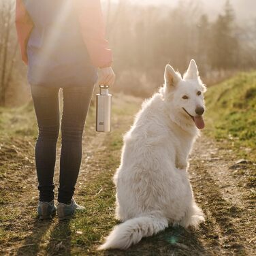
[[[76,5],[82,37],[93,65],[95,67],[110,66],[112,64],[112,51],[108,48],[108,41],[105,39],[100,0],[72,1]],[[22,61],[27,64],[27,42],[33,29],[33,21],[22,0],[16,0],[16,29]]]

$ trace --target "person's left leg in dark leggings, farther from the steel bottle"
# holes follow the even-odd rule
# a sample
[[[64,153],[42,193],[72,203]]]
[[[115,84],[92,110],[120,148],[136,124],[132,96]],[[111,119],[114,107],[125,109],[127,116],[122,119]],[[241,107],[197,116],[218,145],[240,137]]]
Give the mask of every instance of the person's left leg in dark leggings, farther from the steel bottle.
[[[35,144],[39,201],[51,202],[54,199],[53,176],[59,136],[59,89],[31,85],[31,94],[39,130]]]

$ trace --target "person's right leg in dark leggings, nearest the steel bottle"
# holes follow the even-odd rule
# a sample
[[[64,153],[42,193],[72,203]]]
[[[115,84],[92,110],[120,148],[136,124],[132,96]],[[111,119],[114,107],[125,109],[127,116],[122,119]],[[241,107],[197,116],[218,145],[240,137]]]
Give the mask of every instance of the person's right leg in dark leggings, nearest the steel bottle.
[[[61,170],[58,202],[70,204],[82,159],[82,133],[94,86],[63,89]]]

